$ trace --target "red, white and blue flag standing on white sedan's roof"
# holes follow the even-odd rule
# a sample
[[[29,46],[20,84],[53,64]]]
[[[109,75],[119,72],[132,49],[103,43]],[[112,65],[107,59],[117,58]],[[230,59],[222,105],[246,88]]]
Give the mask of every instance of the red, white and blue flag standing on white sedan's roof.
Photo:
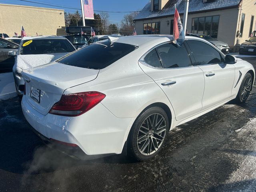
[[[174,13],[174,24],[173,24],[173,43],[178,47],[182,46],[185,40],[184,30],[182,27],[182,23],[180,20],[180,14],[178,10],[175,8]]]

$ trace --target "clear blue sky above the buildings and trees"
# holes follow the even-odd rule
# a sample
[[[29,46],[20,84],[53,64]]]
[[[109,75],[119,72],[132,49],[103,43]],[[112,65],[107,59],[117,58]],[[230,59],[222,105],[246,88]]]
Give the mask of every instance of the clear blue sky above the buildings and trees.
[[[26,2],[29,1],[29,2]],[[93,0],[94,12],[97,11],[138,11],[141,10],[149,0]],[[42,4],[32,3],[38,2]],[[66,12],[74,13],[76,9],[62,8],[57,6],[68,6],[72,8],[81,9],[80,0],[0,0],[2,4],[20,4],[36,7],[57,8],[64,9]],[[43,4],[54,4],[56,6],[49,6]],[[81,11],[81,10],[79,10]],[[120,23],[125,14],[128,13],[109,13],[109,23]]]

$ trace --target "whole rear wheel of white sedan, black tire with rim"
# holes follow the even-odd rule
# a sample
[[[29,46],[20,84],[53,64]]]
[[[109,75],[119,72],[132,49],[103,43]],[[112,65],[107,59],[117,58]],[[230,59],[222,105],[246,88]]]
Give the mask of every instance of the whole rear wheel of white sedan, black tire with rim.
[[[146,124],[147,120],[151,123]],[[164,131],[164,125],[166,125],[166,131]],[[146,127],[151,127],[151,129],[145,129]],[[128,154],[138,161],[144,161],[153,158],[160,152],[160,150],[162,150],[164,142],[166,141],[169,127],[170,125],[168,116],[162,108],[150,107],[144,110],[132,125],[128,137]],[[139,140],[141,142],[137,143]],[[146,149],[143,150],[144,146],[147,144],[146,142],[148,142],[148,145]],[[149,153],[146,154],[146,150],[148,150]]]

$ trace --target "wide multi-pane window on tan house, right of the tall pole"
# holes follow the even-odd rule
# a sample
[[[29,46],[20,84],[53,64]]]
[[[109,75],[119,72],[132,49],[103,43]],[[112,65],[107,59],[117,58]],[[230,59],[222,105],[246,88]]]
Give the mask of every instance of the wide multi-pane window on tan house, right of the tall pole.
[[[209,35],[217,38],[220,16],[192,18],[191,33]]]

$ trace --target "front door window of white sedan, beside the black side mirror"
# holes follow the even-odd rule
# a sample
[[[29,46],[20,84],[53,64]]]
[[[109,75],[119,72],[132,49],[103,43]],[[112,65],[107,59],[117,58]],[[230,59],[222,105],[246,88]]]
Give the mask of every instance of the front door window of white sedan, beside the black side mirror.
[[[196,40],[187,41],[197,65],[217,64],[224,62],[224,58],[212,46]]]

